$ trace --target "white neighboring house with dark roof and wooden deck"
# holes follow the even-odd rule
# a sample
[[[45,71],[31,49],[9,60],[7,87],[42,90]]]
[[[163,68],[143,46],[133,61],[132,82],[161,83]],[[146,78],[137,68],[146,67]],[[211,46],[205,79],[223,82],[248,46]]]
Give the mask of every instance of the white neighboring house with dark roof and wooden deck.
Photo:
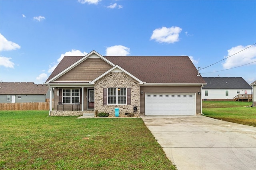
[[[207,83],[202,87],[205,101],[252,99],[252,87],[242,77],[204,77],[204,81]]]

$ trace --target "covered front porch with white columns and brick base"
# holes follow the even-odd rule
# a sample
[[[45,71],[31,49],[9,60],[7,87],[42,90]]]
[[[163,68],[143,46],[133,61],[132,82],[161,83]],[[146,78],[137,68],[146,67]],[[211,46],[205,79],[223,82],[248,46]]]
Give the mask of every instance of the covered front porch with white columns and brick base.
[[[50,116],[80,116],[94,114],[94,86],[54,84],[50,85]]]

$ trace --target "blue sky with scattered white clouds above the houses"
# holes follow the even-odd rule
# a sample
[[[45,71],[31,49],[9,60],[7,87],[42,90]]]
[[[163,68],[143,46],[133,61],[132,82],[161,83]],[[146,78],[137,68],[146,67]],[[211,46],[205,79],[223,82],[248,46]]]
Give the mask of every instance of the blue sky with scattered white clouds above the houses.
[[[256,1],[0,0],[0,42],[3,82],[42,84],[64,55],[95,50],[188,55],[203,77],[252,83]]]

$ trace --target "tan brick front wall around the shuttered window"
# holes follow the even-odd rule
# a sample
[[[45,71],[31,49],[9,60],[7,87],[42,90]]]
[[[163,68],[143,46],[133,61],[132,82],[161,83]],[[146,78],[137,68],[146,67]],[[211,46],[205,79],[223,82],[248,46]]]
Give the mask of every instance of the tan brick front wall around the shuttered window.
[[[131,88],[131,105],[103,105],[103,88]],[[140,84],[124,72],[110,72],[95,82],[94,85],[94,110],[98,113],[109,113],[109,117],[115,117],[115,108],[119,108],[119,117],[127,117],[125,113],[132,113],[133,107],[137,107],[140,115]]]

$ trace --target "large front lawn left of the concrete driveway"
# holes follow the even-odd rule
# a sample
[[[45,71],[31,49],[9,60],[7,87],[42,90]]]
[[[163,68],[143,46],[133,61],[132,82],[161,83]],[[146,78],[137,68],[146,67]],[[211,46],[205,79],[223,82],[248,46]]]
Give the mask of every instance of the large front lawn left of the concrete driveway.
[[[140,118],[0,112],[1,169],[176,170]]]

